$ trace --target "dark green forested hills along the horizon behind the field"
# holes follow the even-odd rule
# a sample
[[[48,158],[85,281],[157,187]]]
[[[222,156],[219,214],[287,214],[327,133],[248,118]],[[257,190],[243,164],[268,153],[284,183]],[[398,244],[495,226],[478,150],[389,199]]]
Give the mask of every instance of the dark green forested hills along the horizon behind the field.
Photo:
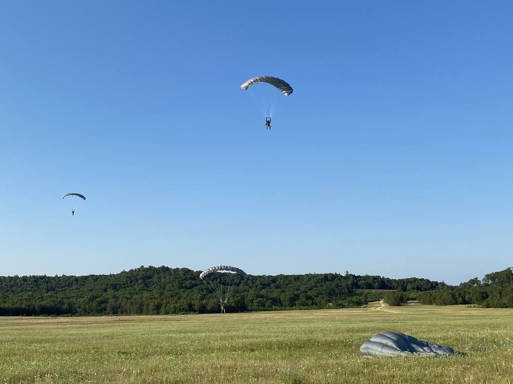
[[[0,276],[1,316],[156,315],[219,312],[220,300],[201,271],[165,266],[108,275]],[[216,272],[217,273],[217,272]],[[248,275],[226,303],[228,312],[467,304],[513,308],[513,268],[458,286],[420,278],[389,279],[349,272]]]

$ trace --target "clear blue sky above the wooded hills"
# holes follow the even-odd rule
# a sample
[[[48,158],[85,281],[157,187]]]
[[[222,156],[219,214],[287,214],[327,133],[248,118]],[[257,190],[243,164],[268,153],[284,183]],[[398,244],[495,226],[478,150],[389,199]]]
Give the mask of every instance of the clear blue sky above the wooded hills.
[[[227,264],[459,284],[513,266],[512,16],[2,2],[0,275]],[[271,131],[240,88],[258,75],[294,88]]]

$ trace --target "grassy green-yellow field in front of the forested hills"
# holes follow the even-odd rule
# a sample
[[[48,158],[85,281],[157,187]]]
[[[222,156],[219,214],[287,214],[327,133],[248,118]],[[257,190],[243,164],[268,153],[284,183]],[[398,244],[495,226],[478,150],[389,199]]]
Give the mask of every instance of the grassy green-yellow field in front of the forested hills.
[[[376,309],[0,317],[2,383],[513,383],[513,311]],[[453,357],[363,358],[397,331]]]

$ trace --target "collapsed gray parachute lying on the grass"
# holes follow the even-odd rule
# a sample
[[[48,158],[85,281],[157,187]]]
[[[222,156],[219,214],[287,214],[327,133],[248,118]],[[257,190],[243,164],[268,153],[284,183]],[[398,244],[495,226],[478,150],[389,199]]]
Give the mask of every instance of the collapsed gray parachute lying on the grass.
[[[423,342],[401,332],[378,333],[362,344],[360,352],[362,356],[451,356],[455,354],[450,347]]]

